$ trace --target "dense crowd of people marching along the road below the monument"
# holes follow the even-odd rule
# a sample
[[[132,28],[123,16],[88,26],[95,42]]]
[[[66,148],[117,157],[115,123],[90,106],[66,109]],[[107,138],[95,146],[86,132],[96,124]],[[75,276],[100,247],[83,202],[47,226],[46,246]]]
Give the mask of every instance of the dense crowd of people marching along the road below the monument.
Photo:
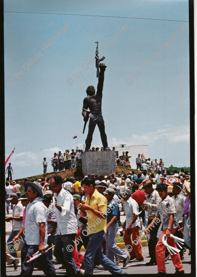
[[[160,274],[166,273],[170,255],[175,273],[184,273],[181,260],[186,248],[190,251],[190,177],[184,169],[171,177],[177,179],[168,186],[161,171],[155,175],[145,169],[138,175],[122,171],[108,176],[89,174],[83,179],[54,174],[38,181],[26,178],[22,196],[14,191],[16,183],[7,180],[7,212],[9,202],[13,205],[12,216],[6,217],[13,225],[7,241],[8,263],[18,266],[16,242],[21,250],[21,275],[31,275],[34,267],[54,275],[54,263],[70,275],[93,274],[98,264],[112,274],[124,274],[129,261],[144,261],[141,229],[149,234],[150,261],[146,265],[157,265]],[[116,244],[118,228],[128,253]],[[173,235],[184,239],[184,248]],[[168,249],[180,252],[166,251],[163,237]],[[53,246],[53,255],[52,249],[45,252],[46,244]],[[85,255],[80,253],[82,245]],[[37,251],[42,255],[28,262]],[[123,269],[118,266],[120,260]]]

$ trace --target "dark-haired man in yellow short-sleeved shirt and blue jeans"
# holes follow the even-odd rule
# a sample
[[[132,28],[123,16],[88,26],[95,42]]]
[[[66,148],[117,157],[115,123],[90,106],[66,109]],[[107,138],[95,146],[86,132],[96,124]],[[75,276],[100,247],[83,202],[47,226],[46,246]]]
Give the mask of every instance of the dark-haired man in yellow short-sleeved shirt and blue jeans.
[[[125,274],[102,252],[101,243],[106,232],[107,199],[95,189],[95,181],[88,177],[84,180],[84,193],[88,194],[85,204],[79,204],[78,208],[83,216],[88,215],[88,234],[90,241],[84,256],[84,274],[93,274],[94,258],[110,273]]]

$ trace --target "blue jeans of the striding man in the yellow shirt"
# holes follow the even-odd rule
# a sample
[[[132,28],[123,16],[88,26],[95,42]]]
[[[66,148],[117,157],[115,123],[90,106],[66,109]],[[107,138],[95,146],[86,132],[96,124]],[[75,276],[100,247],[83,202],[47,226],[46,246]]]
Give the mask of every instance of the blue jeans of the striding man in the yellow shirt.
[[[84,255],[84,274],[93,274],[94,258],[111,274],[124,274],[125,272],[117,267],[110,259],[108,259],[102,252],[101,243],[104,239],[104,231],[97,232],[90,235],[90,241]]]

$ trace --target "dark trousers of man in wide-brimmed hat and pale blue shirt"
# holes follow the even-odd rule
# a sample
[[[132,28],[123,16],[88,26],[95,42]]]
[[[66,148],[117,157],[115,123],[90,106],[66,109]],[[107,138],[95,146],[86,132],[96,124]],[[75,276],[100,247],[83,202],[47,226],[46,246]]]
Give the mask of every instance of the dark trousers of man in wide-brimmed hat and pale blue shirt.
[[[38,257],[37,259],[27,262],[29,260],[28,256],[31,256],[38,251],[38,245],[27,245],[27,252],[26,252],[26,257],[25,261],[23,262],[22,270],[21,270],[21,275],[29,276],[32,275],[32,272],[34,270],[34,266],[37,263],[38,267],[43,270],[44,274],[47,275],[56,275],[54,266],[52,265],[51,261],[48,258],[48,255],[45,253]]]

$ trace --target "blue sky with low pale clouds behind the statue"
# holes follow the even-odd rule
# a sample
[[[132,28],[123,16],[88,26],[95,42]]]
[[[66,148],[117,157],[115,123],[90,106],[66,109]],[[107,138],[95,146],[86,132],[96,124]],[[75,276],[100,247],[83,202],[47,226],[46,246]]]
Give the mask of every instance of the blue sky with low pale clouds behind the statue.
[[[43,157],[52,171],[54,151],[85,143],[81,112],[87,86],[98,82],[97,40],[107,65],[102,111],[109,146],[148,144],[151,159],[189,166],[187,1],[4,3],[5,143],[6,157],[16,147],[15,178],[42,173]],[[98,128],[93,143],[101,146]]]

